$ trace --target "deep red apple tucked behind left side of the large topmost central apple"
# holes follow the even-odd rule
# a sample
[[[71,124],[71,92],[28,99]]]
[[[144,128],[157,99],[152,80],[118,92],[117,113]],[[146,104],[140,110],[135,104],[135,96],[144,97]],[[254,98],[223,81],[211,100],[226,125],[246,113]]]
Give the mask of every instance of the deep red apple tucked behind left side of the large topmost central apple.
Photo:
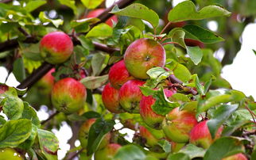
[[[108,73],[111,86],[115,89],[120,89],[121,86],[130,79],[134,79],[126,69],[124,60],[114,63]]]

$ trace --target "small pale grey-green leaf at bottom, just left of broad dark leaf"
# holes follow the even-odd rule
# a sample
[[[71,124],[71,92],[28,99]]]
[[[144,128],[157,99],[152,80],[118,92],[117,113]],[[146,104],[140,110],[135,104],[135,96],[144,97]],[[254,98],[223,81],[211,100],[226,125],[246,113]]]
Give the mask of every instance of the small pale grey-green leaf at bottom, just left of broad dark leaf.
[[[201,147],[196,147],[195,145],[189,143],[185,147],[183,147],[179,153],[184,153],[189,156],[190,159],[192,158],[199,158],[204,157],[205,150]]]

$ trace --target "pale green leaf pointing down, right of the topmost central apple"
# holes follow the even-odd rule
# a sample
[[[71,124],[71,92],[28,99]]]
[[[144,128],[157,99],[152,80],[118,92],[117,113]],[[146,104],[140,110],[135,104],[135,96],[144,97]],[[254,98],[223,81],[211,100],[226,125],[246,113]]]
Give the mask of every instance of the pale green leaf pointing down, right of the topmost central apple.
[[[193,63],[196,65],[201,62],[203,58],[203,52],[201,51],[200,47],[195,46],[195,47],[186,47],[188,55],[190,59],[192,60]]]

